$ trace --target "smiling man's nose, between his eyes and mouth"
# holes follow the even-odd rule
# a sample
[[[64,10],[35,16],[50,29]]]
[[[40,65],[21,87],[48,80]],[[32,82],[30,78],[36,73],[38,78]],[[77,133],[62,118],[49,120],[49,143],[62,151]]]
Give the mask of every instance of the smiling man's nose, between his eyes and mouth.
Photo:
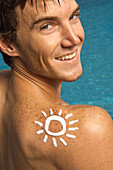
[[[61,46],[63,48],[73,47],[80,43],[80,39],[75,33],[74,28],[72,28],[72,26],[70,25],[64,27],[64,29],[62,30],[62,35],[63,38],[61,41]]]

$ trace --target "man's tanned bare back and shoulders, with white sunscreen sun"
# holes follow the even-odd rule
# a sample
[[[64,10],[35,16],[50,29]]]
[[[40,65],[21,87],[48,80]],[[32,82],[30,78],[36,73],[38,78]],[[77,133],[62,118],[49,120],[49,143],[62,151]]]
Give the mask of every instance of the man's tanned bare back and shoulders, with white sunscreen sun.
[[[12,93],[9,77],[1,73],[2,170],[112,169],[113,123],[103,109],[56,105],[26,84]]]

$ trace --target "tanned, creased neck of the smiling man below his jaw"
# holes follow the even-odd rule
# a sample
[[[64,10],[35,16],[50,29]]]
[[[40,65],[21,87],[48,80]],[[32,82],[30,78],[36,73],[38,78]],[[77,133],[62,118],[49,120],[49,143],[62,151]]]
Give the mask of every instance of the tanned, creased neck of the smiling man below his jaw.
[[[32,75],[20,65],[16,65],[12,68],[12,84],[12,87],[21,86],[25,88],[27,93],[30,92],[32,95],[37,95],[38,98],[39,95],[41,95],[47,101],[54,103],[63,102],[60,99],[61,82]]]

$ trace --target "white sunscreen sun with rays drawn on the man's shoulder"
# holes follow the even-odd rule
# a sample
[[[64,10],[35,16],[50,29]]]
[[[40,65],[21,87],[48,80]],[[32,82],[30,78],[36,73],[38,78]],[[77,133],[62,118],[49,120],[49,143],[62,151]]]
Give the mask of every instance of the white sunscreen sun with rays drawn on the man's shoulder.
[[[42,112],[43,116],[46,118],[46,120],[45,120],[45,127],[44,127],[43,123],[41,123],[39,121],[35,121],[36,124],[38,124],[40,127],[43,127],[43,129],[38,130],[36,132],[36,134],[40,135],[40,134],[44,133],[44,131],[45,131],[46,135],[44,136],[43,142],[46,143],[47,139],[48,139],[48,135],[50,135],[50,136],[52,136],[53,145],[55,147],[57,147],[57,141],[56,141],[55,137],[57,137],[57,136],[60,137],[60,136],[62,136],[62,135],[64,135],[66,133],[66,129],[67,129],[66,120],[68,118],[72,117],[73,114],[72,113],[67,114],[65,116],[65,119],[64,119],[64,118],[61,117],[62,109],[60,109],[60,111],[58,113],[58,116],[57,115],[53,115],[53,110],[52,109],[50,109],[50,116],[49,117],[47,117],[47,114],[44,111],[41,111],[41,112]],[[62,125],[62,130],[60,132],[51,132],[49,130],[50,122],[53,121],[53,120],[60,122],[60,124]],[[78,120],[72,120],[72,121],[69,122],[69,125],[73,125],[74,123],[77,123],[77,122],[78,122]],[[78,127],[73,127],[73,128],[70,127],[70,128],[68,128],[69,132],[76,131],[76,130],[79,130],[79,128]],[[66,137],[72,138],[72,139],[76,138],[75,135],[71,135],[69,133],[68,134],[66,133]],[[64,144],[64,146],[67,146],[67,142],[62,137],[60,137],[59,140]]]

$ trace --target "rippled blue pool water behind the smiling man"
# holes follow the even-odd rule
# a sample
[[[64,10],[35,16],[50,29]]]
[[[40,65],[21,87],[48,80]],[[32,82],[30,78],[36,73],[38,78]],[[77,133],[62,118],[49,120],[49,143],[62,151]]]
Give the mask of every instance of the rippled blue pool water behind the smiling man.
[[[113,118],[113,0],[77,0],[85,42],[81,53],[83,75],[62,84],[61,97],[69,104],[91,104]],[[8,68],[0,56],[0,70]]]

